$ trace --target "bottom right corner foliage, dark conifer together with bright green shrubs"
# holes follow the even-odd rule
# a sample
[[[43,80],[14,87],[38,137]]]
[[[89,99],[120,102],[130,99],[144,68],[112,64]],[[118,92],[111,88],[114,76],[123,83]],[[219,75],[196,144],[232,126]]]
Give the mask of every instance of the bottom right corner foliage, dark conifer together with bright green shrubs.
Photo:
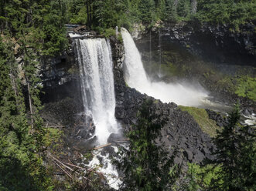
[[[255,190],[255,129],[241,126],[239,120],[239,107],[235,106],[227,126],[213,138],[215,159],[201,166],[189,163],[181,190]]]

